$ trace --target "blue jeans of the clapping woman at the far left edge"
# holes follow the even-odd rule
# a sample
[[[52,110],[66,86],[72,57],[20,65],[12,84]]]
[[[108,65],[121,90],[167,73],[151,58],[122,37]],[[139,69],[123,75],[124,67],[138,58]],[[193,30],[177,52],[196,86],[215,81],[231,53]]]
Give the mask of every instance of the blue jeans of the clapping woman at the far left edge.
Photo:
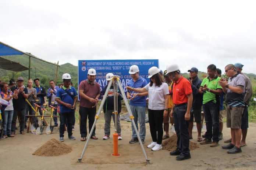
[[[4,110],[3,113],[3,135],[11,134],[11,121],[13,120],[13,110]]]

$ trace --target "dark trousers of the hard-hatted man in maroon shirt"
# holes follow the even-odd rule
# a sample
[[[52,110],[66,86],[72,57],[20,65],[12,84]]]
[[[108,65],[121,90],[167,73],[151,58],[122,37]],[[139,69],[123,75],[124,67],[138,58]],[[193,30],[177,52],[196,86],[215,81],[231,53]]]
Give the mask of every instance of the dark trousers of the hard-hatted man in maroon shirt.
[[[96,108],[85,108],[81,106],[79,107],[79,115],[81,118],[81,123],[80,123],[81,137],[87,136],[87,129],[86,129],[87,117],[89,119],[89,133],[90,133],[92,129],[92,125],[95,120],[95,114],[96,114]],[[95,136],[95,130],[96,130],[96,126],[93,129],[92,136]]]

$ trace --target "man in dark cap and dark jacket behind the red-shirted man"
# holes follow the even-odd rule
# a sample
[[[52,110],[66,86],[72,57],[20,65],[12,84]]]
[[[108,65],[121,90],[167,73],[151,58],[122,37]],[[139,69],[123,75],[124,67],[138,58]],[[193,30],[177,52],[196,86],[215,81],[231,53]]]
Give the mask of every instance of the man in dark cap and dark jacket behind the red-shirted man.
[[[202,105],[203,105],[203,94],[199,93],[199,88],[202,83],[202,81],[198,78],[198,69],[196,67],[192,67],[189,72],[189,82],[191,84],[192,88],[192,94],[193,94],[193,102],[192,102],[192,111],[191,111],[191,117],[189,120],[189,138],[192,138],[192,128],[193,128],[193,119],[195,118],[196,122],[196,128],[198,130],[198,138],[197,141],[201,142],[201,129],[202,129],[202,117],[201,117],[201,111],[202,111]]]

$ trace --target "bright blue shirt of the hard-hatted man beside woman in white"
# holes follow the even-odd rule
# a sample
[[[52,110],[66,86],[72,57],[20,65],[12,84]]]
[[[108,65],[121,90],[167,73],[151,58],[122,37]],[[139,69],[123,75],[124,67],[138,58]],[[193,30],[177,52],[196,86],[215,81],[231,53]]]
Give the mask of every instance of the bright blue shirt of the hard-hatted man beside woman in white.
[[[128,86],[131,88],[143,88],[147,85],[147,81],[145,78],[139,77],[137,81],[133,81],[132,79],[128,82]],[[131,90],[130,92],[132,93],[137,93]],[[133,100],[130,100],[130,105],[131,106],[143,106],[146,107],[146,98],[147,96],[141,96],[138,97],[136,96]]]

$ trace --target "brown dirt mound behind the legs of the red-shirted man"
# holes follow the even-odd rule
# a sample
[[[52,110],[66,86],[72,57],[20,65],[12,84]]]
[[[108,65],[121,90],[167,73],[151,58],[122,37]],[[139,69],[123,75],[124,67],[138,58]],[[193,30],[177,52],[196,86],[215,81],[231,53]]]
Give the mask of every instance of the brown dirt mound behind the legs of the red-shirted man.
[[[164,140],[164,142],[162,143],[163,149],[168,150],[168,151],[175,150],[176,145],[177,145],[177,135],[176,134],[173,134],[173,136]],[[199,148],[198,145],[196,143],[189,141],[189,149],[192,151],[196,148]]]

